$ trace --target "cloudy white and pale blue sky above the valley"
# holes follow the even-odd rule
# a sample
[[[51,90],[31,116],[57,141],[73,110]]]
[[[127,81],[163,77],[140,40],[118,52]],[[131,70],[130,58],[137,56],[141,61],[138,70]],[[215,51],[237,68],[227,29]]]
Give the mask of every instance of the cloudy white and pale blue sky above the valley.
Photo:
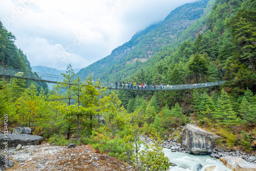
[[[0,19],[31,66],[84,68],[196,0],[1,0]]]

